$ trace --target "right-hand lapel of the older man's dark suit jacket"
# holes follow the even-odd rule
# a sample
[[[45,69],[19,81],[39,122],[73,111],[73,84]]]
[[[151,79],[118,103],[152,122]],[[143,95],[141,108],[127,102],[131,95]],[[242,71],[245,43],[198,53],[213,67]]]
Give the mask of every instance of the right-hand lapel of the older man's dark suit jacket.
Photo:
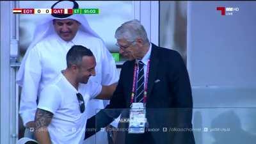
[[[159,62],[157,58],[157,46],[152,44],[152,51],[150,54],[150,66],[149,66],[149,74],[148,74],[148,99],[150,99],[150,94],[152,92],[152,88],[154,86],[154,80],[156,79],[157,74],[157,64]]]

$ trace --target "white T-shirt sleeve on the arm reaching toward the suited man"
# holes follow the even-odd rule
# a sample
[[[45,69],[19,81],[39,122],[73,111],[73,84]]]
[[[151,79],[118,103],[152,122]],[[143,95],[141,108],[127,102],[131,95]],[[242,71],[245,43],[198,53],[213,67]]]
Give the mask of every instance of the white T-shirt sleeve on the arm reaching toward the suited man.
[[[102,85],[95,81],[88,81],[87,83],[87,90],[89,91],[90,99],[95,98],[97,95],[100,94],[102,90]]]

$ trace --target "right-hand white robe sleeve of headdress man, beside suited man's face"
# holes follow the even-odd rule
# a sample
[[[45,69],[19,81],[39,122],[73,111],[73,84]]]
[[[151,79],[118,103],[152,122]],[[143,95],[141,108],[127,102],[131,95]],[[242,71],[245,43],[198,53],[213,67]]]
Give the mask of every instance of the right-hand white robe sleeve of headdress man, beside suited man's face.
[[[113,56],[111,55],[111,53],[108,51],[108,49],[105,47],[105,45],[103,44],[103,42],[101,42],[102,44],[102,61],[101,61],[101,65],[102,65],[102,85],[110,85],[113,83],[117,83],[119,76],[118,76],[118,72],[116,69],[116,63],[115,60],[113,58]]]

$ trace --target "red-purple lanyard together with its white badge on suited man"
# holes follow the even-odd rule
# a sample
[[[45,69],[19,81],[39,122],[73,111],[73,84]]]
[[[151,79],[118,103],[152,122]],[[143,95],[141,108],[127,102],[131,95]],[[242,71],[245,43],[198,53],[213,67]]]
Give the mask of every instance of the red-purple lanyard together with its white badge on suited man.
[[[135,87],[136,87],[135,84],[136,84],[136,77],[137,77],[137,73],[136,73],[137,65],[134,66],[128,133],[140,134],[145,132],[145,125],[147,123],[145,104],[147,102],[149,61],[150,60],[148,60],[148,65],[147,65],[147,75],[146,75],[146,83],[144,88],[143,103],[134,102],[134,93],[135,93]]]

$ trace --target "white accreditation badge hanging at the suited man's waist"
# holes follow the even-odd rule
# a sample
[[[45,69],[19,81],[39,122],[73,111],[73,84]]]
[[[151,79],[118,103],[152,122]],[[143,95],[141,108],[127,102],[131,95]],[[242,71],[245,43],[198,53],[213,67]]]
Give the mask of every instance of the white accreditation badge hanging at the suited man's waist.
[[[128,133],[140,134],[145,132],[147,123],[146,109],[142,102],[133,102],[130,109]]]

